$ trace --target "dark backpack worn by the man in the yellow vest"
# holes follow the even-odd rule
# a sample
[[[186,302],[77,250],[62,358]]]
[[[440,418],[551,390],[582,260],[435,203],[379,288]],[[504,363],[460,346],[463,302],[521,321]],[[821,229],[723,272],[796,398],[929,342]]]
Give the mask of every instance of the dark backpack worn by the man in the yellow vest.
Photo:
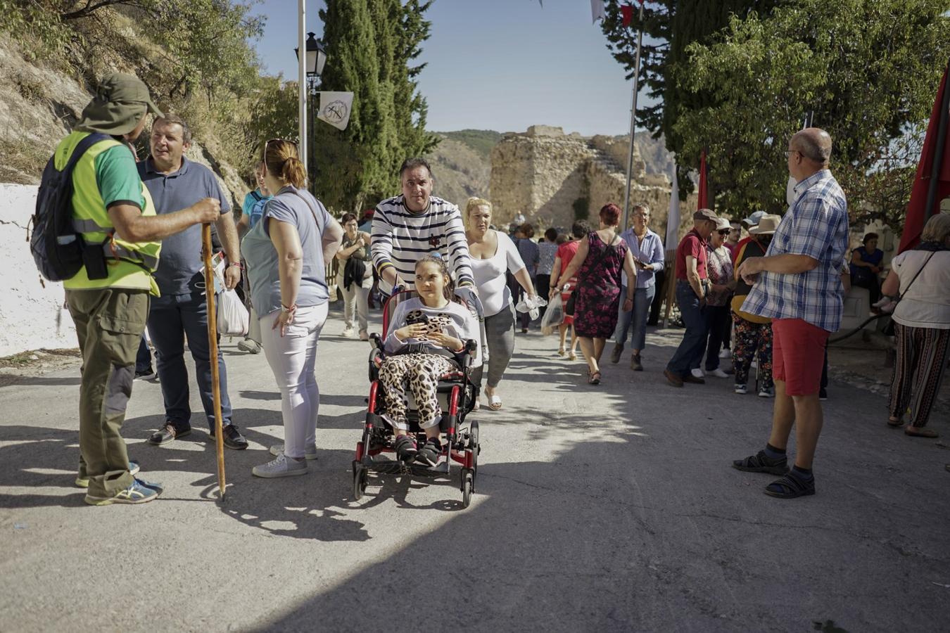
[[[72,226],[72,170],[86,150],[111,137],[93,133],[80,140],[63,171],[56,169],[49,158],[40,191],[36,196],[36,213],[31,219],[33,233],[29,250],[40,274],[49,281],[71,279],[83,268],[83,236]]]

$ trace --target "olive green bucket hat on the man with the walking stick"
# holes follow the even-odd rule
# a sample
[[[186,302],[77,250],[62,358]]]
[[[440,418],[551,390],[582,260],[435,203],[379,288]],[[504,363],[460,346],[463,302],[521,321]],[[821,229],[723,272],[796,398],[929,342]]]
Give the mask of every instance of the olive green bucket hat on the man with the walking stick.
[[[103,78],[76,129],[122,136],[134,130],[146,112],[164,117],[141,79],[114,72]]]

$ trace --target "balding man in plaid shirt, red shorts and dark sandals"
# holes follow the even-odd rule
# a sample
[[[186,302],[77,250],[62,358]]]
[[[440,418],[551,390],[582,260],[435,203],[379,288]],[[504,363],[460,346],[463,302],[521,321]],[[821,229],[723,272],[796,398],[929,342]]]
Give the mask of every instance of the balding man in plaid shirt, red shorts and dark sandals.
[[[822,431],[818,391],[828,334],[841,326],[841,264],[847,250],[845,193],[828,171],[831,137],[807,128],[788,143],[795,198],[764,257],[746,259],[736,274],[753,284],[742,309],[772,320],[775,408],[764,450],[737,459],[740,471],[783,475],[765,492],[780,498],[815,493],[811,462]],[[788,470],[788,436],[797,452]]]

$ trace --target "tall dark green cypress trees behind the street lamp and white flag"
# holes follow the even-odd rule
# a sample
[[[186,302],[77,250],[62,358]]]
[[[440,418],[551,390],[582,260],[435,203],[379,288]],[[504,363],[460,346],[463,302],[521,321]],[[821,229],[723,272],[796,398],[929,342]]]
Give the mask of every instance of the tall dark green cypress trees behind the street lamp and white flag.
[[[350,123],[317,121],[314,186],[331,206],[357,211],[399,190],[399,164],[434,147],[425,130],[426,100],[410,66],[428,38],[430,3],[328,0],[320,11],[328,61],[322,90],[353,93]]]

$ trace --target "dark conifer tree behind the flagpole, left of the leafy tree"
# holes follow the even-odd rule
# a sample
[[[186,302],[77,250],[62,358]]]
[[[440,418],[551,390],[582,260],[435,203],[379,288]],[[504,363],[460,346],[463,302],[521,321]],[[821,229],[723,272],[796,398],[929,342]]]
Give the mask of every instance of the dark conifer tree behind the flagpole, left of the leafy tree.
[[[788,2],[788,0],[784,0]],[[680,159],[680,195],[692,191],[688,173],[698,167],[699,153],[684,153],[683,140],[676,122],[684,113],[708,106],[712,90],[686,89],[681,76],[688,69],[688,49],[693,43],[712,42],[729,25],[732,15],[746,16],[751,11],[768,12],[783,0],[654,0],[644,5],[644,45],[640,53],[640,85],[645,86],[656,105],[637,108],[637,126],[650,130],[655,138],[663,135],[666,147]],[[606,0],[607,17],[601,28],[614,58],[633,77],[637,51],[638,12],[634,22],[624,27],[620,5],[626,0]],[[636,4],[635,4],[636,6]]]

